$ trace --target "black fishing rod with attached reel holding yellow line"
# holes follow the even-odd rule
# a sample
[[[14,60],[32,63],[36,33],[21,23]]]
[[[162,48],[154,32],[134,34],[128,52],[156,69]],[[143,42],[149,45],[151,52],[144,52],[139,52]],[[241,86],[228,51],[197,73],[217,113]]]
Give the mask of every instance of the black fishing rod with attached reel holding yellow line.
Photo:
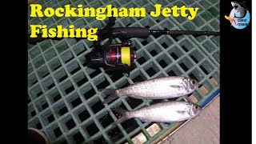
[[[136,62],[136,52],[133,50],[130,38],[148,38],[150,35],[161,36],[179,36],[182,34],[190,34],[194,36],[201,35],[219,35],[215,31],[194,31],[194,30],[150,30],[146,27],[117,27],[115,18],[110,17],[109,22],[102,30],[97,31],[98,39],[94,41],[94,48],[89,54],[86,54],[86,64],[92,68],[103,67],[106,72],[122,72],[130,73]],[[112,43],[114,38],[119,38],[121,43]],[[37,38],[28,38],[30,44],[42,42],[45,39],[61,40],[62,38],[42,38],[42,34],[38,34]],[[85,38],[75,38],[76,40]],[[107,40],[104,44],[102,41]]]

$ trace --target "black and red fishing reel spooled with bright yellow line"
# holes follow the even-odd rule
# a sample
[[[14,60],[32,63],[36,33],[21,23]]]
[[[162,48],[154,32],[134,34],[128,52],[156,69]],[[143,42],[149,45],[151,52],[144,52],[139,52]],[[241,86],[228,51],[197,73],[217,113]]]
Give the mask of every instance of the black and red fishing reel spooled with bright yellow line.
[[[136,62],[136,52],[131,47],[129,38],[120,38],[121,43],[112,44],[113,38],[118,34],[111,30],[114,26],[115,18],[109,18],[109,23],[98,32],[98,39],[94,41],[94,49],[86,54],[86,62],[89,67],[103,67],[107,73],[122,72],[130,73]],[[103,40],[107,40],[102,45]]]

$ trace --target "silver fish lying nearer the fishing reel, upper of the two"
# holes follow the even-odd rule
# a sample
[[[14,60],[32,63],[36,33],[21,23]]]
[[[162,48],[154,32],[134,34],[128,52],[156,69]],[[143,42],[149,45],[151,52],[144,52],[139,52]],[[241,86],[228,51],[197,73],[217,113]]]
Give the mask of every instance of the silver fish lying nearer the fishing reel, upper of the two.
[[[118,90],[102,89],[100,91],[102,94],[110,95],[102,102],[106,104],[124,95],[138,99],[178,98],[192,93],[198,86],[199,83],[194,78],[168,76],[137,82]]]

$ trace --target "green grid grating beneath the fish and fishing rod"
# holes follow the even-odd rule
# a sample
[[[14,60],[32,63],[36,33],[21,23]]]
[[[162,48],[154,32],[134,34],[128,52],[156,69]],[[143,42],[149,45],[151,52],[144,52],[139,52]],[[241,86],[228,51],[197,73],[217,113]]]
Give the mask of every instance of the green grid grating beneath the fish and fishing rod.
[[[150,12],[154,4],[165,7],[199,7],[193,21],[186,18],[117,18],[118,26],[142,26],[150,29],[168,30],[214,30],[219,31],[218,0],[125,0],[125,1],[75,1],[40,0],[46,7],[71,4],[99,7],[112,4],[115,7],[146,7]],[[28,9],[30,14],[30,9]],[[106,19],[107,20],[107,19]],[[30,24],[46,24],[48,27],[74,24],[75,28],[102,28],[105,21],[95,18],[30,18]],[[29,27],[30,29],[30,27]],[[29,30],[30,31],[30,30]],[[117,38],[117,42],[120,40]],[[189,95],[198,104],[206,101],[219,89],[219,36],[182,35],[177,38],[163,35],[158,38],[132,38],[137,53],[136,68],[130,77],[124,74],[109,75],[102,68],[86,67],[85,55],[91,51],[93,42],[76,41],[72,38],[61,41],[45,40],[28,46],[28,126],[45,132],[50,143],[125,143],[142,133],[146,143],[154,142],[177,123],[158,123],[161,130],[153,137],[146,130],[154,122],[130,119],[121,125],[111,125],[118,118],[111,108],[135,110],[161,100],[140,100],[128,97],[118,98],[103,106],[105,96],[98,90],[121,88],[134,82],[168,75],[183,75],[198,79],[202,86]],[[177,100],[181,100],[178,98]],[[168,101],[170,99],[165,99]]]

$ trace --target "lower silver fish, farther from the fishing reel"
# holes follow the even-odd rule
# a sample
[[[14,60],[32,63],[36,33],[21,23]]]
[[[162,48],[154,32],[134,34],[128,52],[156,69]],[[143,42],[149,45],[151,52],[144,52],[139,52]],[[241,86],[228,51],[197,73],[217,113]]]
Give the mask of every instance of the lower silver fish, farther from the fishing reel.
[[[130,118],[138,118],[143,122],[182,122],[198,115],[202,108],[193,102],[170,101],[144,106],[138,110],[113,109],[121,117],[114,122],[125,122]]]

